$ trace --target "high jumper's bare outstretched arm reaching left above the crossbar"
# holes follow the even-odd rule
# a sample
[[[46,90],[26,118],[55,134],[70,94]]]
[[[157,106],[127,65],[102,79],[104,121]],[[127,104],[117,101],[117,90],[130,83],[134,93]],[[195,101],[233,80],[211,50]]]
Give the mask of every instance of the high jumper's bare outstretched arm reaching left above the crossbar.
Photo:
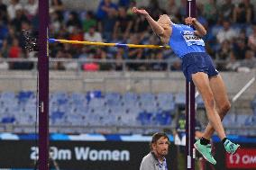
[[[158,35],[158,36],[163,36],[164,33],[164,29],[160,26],[160,24],[156,21],[154,21],[151,18],[151,15],[144,9],[138,9],[136,7],[133,7],[132,9],[133,13],[138,13],[138,14],[142,14],[145,16],[146,20],[150,23],[151,25],[151,29]]]

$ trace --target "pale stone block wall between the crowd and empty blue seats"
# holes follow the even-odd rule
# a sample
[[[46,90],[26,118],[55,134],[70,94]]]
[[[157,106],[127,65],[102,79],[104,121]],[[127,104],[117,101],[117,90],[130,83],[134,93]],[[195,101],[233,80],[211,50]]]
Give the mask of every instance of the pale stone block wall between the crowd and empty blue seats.
[[[246,85],[255,72],[221,73],[230,97]],[[36,90],[37,73],[31,71],[1,71],[0,92]],[[73,72],[50,71],[50,91],[125,93],[185,93],[185,79],[181,72]],[[248,88],[242,98],[251,100],[256,92],[256,84]]]

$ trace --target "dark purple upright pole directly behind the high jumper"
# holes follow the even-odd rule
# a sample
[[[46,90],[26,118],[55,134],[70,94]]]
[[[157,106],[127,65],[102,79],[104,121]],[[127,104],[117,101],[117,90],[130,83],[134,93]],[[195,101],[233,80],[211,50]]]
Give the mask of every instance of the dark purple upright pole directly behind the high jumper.
[[[187,16],[196,17],[196,0],[187,0]],[[195,85],[186,82],[186,152],[187,170],[195,170]]]

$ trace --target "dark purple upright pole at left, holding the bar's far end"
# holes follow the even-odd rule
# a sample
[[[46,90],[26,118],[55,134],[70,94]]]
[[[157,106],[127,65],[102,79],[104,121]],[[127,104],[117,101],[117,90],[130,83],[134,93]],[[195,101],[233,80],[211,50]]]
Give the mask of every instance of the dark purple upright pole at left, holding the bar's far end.
[[[49,170],[49,0],[39,1],[39,169]]]

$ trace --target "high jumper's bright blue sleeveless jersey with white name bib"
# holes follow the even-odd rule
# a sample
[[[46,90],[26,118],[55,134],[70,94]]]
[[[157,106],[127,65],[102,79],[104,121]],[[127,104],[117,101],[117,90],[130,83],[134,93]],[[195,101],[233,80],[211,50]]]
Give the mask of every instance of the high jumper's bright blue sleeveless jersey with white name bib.
[[[191,52],[206,52],[204,40],[194,33],[192,27],[184,24],[172,25],[169,46],[179,58]]]

